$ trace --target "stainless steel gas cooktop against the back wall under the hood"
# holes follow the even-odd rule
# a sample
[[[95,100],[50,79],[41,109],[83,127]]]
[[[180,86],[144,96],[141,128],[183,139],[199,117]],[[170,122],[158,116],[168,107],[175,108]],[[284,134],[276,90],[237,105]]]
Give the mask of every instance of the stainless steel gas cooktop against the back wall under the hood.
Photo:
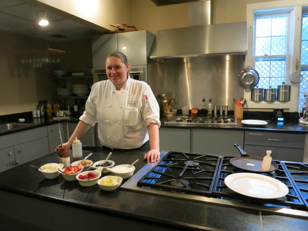
[[[168,118],[164,124],[172,126],[236,127],[237,120],[234,115],[174,115]]]

